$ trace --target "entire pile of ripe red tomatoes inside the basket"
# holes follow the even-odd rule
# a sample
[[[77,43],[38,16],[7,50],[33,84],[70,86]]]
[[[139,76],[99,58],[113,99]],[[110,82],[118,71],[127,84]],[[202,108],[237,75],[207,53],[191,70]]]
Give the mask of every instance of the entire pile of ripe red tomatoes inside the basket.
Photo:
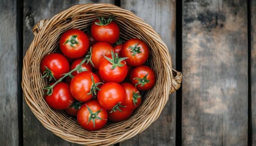
[[[90,33],[67,30],[60,36],[61,52],[41,60],[43,77],[50,81],[44,88],[46,103],[77,117],[89,131],[107,120],[129,118],[141,104],[140,91],[155,84],[154,71],[144,65],[148,45],[137,38],[116,43],[119,27],[112,19],[96,19]]]

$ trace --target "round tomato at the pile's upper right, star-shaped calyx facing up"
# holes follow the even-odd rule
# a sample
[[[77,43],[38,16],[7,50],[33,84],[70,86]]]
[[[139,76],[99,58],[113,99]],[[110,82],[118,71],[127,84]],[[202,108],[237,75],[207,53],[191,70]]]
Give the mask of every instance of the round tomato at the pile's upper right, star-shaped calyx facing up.
[[[128,65],[140,66],[149,58],[149,47],[144,41],[135,38],[123,44],[120,54],[121,57],[129,57],[126,60]]]

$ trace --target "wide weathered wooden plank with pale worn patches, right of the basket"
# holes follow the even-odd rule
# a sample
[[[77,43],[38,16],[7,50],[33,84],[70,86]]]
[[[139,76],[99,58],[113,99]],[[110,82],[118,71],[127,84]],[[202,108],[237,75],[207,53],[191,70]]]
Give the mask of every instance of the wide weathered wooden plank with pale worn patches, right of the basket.
[[[247,4],[183,1],[182,145],[247,145]]]

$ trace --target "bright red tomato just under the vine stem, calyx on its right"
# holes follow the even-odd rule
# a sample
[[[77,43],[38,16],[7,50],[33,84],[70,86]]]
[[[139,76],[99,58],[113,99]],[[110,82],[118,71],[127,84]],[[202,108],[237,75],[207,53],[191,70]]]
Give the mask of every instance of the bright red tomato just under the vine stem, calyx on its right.
[[[99,77],[93,72],[80,72],[72,78],[70,91],[76,100],[87,102],[96,96],[99,84],[101,84]]]

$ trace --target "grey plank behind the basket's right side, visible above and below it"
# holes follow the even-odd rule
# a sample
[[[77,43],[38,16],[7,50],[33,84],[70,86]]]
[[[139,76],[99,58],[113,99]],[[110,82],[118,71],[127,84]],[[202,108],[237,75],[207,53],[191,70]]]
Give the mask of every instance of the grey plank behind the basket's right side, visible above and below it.
[[[162,36],[172,56],[175,68],[176,56],[176,1],[121,1],[123,9],[130,10],[150,24]],[[120,145],[175,145],[176,94],[169,100],[161,116],[146,130]]]

